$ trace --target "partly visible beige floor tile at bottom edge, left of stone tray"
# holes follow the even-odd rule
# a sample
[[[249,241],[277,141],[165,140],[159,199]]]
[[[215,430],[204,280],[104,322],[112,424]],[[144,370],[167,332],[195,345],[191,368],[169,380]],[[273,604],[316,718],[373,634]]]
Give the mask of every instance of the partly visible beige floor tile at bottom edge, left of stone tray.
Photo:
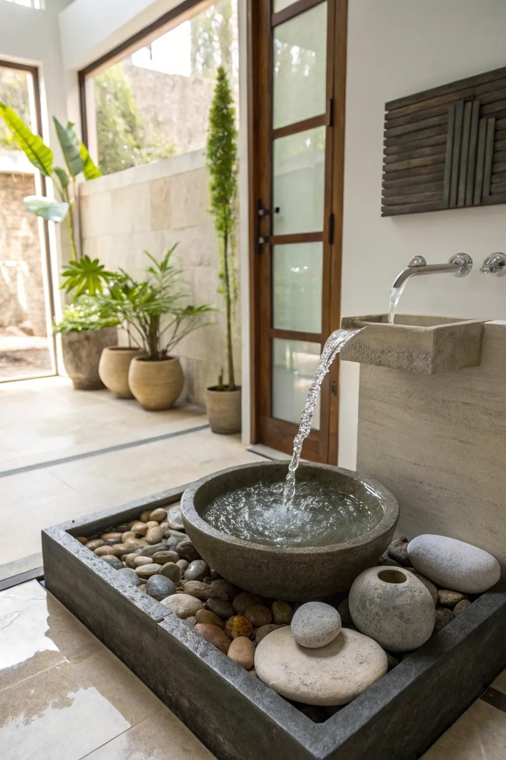
[[[212,760],[214,755],[162,705],[156,714],[86,755],[86,760]]]

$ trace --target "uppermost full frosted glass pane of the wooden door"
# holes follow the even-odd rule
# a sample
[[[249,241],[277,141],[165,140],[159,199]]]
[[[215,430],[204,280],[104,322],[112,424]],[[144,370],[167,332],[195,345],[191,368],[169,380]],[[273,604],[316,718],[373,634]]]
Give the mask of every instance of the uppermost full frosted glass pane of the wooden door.
[[[274,28],[274,128],[325,113],[327,3]]]

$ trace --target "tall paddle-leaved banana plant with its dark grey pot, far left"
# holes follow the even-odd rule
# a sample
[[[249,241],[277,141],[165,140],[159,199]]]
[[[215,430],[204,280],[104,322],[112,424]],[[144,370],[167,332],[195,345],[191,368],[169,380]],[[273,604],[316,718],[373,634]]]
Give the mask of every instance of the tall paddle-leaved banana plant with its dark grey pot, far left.
[[[92,260],[88,256],[77,255],[74,219],[77,176],[83,174],[85,179],[95,179],[101,176],[100,170],[91,160],[84,144],[77,138],[72,122],[68,122],[64,127],[58,119],[53,117],[56,135],[67,166],[66,171],[61,166],[53,165],[51,148],[44,144],[39,135],[33,134],[23,119],[2,101],[0,101],[0,116],[14,135],[18,147],[24,151],[33,166],[53,182],[58,200],[52,201],[50,198],[30,195],[24,198],[24,204],[28,211],[44,220],[55,223],[66,222],[71,261],[62,268],[61,275],[64,283],[61,287],[66,293],[72,293],[74,299],[82,295],[95,297],[102,292],[105,283],[112,277],[112,273],[105,271],[98,259]],[[86,328],[85,316],[83,316],[83,323],[77,327],[79,315],[83,315],[83,310],[75,309],[72,331],[59,329],[58,326],[55,328],[57,333],[61,332],[64,367],[74,382],[74,388],[90,390],[102,388],[103,385],[98,376],[100,353],[105,341],[108,345],[118,343],[118,334],[110,327],[105,328],[107,332],[104,334],[101,333],[101,327]],[[77,375],[74,375],[74,372],[77,372]]]

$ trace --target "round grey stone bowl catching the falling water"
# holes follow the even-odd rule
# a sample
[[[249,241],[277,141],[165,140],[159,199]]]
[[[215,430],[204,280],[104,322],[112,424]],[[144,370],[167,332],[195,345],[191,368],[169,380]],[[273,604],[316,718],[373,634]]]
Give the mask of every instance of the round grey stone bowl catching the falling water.
[[[376,565],[394,534],[397,499],[377,480],[329,464],[300,464],[300,480],[320,481],[338,494],[359,496],[378,522],[359,537],[324,546],[272,546],[216,530],[203,519],[206,506],[228,492],[263,481],[284,480],[288,462],[229,467],[193,483],[181,499],[184,527],[200,556],[231,583],[274,599],[323,597],[350,588],[363,570]]]

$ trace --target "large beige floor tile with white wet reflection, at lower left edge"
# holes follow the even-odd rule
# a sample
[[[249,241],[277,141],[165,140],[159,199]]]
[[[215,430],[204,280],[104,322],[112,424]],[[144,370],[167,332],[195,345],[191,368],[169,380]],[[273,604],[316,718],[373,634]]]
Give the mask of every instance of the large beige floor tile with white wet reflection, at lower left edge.
[[[2,760],[78,760],[161,705],[98,643],[0,692]]]

